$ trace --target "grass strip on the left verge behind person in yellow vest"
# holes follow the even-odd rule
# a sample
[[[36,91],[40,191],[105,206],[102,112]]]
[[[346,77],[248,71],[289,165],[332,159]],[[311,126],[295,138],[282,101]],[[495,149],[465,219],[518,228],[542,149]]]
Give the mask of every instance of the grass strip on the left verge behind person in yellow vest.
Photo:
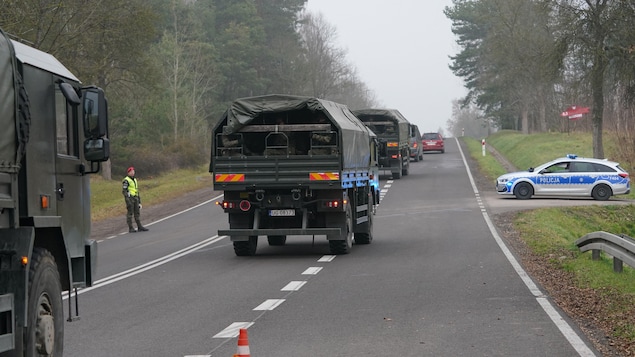
[[[100,176],[91,177],[91,217],[93,221],[117,217],[126,214],[121,179],[104,180]],[[137,175],[143,205],[155,205],[184,193],[192,192],[212,184],[207,165],[196,169],[183,169],[166,172],[156,177]]]

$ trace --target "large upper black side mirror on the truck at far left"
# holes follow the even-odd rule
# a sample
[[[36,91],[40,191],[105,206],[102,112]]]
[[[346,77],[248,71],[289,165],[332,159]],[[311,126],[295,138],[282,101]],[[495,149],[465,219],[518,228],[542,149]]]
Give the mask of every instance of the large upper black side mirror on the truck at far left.
[[[84,92],[84,136],[97,139],[108,133],[108,102],[101,88],[89,87]]]

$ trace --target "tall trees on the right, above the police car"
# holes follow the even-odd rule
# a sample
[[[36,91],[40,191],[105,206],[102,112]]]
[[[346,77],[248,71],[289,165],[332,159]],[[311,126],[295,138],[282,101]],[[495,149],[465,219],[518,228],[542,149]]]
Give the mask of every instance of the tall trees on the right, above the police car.
[[[604,157],[604,130],[635,156],[635,2],[453,0],[445,9],[460,51],[450,68],[479,120],[524,133],[589,130]],[[590,107],[589,118],[560,114]],[[455,108],[456,109],[456,108]]]

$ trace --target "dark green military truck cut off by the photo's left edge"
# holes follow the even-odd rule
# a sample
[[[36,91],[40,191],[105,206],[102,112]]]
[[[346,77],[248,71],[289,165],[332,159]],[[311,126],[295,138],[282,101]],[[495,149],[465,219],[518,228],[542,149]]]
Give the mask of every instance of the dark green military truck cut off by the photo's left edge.
[[[107,104],[55,57],[0,30],[0,355],[61,356],[90,286],[89,176],[108,159]],[[75,311],[71,309],[75,292]]]

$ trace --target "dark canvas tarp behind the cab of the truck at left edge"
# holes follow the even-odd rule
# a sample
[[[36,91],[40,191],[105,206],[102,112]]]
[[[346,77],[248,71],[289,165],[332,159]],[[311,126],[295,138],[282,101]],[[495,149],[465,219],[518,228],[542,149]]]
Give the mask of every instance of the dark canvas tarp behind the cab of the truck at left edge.
[[[15,77],[11,41],[0,30],[0,172],[15,172],[19,164],[15,135]]]

